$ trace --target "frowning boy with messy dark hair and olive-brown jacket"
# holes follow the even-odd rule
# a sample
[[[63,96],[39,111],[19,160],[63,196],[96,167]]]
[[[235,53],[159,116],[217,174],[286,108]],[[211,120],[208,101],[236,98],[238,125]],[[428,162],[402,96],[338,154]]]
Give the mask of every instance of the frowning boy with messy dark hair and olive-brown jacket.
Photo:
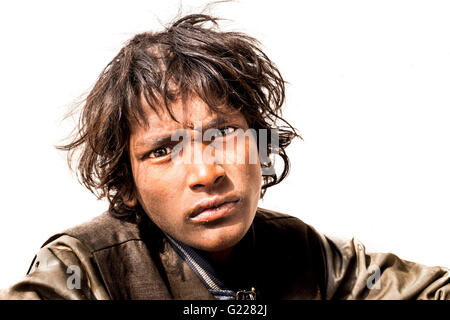
[[[213,17],[133,37],[61,147],[109,210],[52,236],[3,297],[449,299],[446,268],[369,254],[258,208],[298,136],[283,102],[283,78],[257,41]]]

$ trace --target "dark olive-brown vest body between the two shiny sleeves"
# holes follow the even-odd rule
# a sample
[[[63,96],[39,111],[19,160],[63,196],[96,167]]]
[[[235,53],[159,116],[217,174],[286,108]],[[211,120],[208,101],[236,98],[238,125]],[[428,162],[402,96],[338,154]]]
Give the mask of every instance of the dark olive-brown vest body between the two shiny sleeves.
[[[241,249],[231,278],[248,280],[265,300],[322,297],[325,262],[319,235],[311,227],[258,209],[250,232],[244,238],[251,238],[251,247]],[[62,234],[89,248],[112,299],[214,299],[150,221],[137,224],[104,213]]]

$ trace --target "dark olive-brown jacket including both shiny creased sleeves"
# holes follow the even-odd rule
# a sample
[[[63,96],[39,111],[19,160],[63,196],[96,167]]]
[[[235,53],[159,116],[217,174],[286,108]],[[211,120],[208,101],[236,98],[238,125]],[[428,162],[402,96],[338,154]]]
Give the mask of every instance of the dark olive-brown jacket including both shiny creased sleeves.
[[[366,253],[357,240],[332,240],[295,217],[258,209],[249,232],[228,275],[263,299],[450,299],[448,269]],[[213,299],[156,226],[109,213],[51,237],[0,297]]]

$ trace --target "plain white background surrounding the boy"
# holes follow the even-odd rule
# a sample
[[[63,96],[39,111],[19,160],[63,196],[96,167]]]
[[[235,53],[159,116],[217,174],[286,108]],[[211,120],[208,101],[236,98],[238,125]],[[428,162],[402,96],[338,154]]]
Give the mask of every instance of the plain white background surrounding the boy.
[[[182,1],[197,12],[206,1]],[[53,145],[75,99],[179,1],[0,2],[0,287],[53,233],[107,208]],[[259,39],[304,141],[261,206],[317,230],[450,266],[450,2],[236,1],[212,11]]]

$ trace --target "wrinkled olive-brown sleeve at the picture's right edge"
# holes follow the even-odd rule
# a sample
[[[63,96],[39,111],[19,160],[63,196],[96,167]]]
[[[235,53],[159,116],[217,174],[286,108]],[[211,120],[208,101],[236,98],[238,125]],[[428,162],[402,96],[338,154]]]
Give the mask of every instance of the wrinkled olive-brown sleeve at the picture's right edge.
[[[356,239],[321,235],[326,299],[450,300],[450,270],[367,253]]]

